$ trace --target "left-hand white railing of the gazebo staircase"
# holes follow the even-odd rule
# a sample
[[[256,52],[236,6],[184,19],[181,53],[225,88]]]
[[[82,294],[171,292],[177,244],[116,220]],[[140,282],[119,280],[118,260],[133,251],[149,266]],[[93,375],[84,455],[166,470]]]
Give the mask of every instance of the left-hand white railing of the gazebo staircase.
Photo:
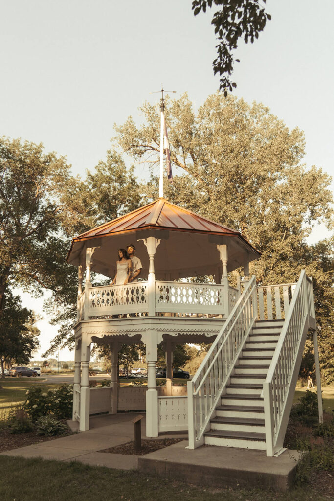
[[[207,356],[188,381],[189,448],[204,443],[204,432],[231,376],[257,315],[256,281],[252,277],[236,302]]]

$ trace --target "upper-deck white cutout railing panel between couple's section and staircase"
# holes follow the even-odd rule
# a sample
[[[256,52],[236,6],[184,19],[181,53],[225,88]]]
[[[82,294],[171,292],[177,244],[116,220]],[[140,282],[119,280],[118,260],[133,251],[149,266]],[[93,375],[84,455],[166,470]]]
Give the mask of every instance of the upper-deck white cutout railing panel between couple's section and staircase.
[[[155,311],[224,314],[223,286],[155,282]]]

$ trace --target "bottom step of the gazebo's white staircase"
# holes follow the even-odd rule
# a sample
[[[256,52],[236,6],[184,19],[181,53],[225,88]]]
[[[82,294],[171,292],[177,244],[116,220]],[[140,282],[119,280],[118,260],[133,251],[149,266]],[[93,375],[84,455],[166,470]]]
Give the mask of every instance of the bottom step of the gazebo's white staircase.
[[[265,434],[250,431],[210,430],[204,434],[204,443],[225,447],[265,450]]]

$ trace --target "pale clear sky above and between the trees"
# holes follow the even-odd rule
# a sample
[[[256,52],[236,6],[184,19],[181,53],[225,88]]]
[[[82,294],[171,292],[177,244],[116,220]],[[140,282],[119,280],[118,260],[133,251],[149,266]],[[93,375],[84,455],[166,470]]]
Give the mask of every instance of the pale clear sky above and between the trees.
[[[262,102],[305,133],[307,166],[334,173],[334,2],[267,0],[272,20],[235,56],[235,95]],[[219,87],[213,75],[213,10],[191,0],[0,0],[0,135],[43,143],[85,175],[104,159],[114,124],[158,102],[161,89],[187,92],[199,107]],[[141,166],[139,177],[148,172]],[[313,240],[325,236],[317,228]],[[42,312],[42,300],[22,294]],[[57,328],[39,322],[41,353]],[[73,359],[68,350],[61,360]]]

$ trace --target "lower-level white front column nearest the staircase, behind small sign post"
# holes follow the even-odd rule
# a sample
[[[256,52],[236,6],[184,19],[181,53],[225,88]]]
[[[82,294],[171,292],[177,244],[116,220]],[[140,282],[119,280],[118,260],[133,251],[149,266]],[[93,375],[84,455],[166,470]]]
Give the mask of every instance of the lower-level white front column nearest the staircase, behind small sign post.
[[[158,390],[155,364],[158,359],[158,336],[155,329],[147,329],[142,336],[146,346],[147,392],[146,392],[146,436],[158,436]]]

